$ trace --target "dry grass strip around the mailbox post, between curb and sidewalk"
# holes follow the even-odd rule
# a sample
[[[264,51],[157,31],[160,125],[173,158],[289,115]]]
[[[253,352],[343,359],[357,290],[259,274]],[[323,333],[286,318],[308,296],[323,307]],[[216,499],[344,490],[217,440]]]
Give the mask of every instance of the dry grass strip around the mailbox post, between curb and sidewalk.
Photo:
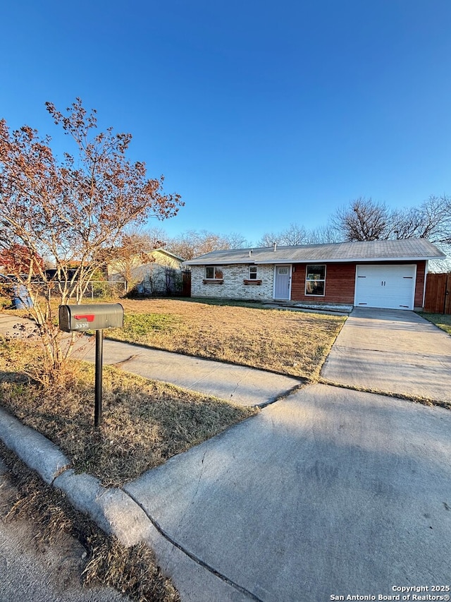
[[[74,363],[66,383],[48,390],[24,375],[38,354],[0,338],[1,406],[105,485],[120,486],[257,413],[104,366],[103,423],[94,428],[94,367]]]

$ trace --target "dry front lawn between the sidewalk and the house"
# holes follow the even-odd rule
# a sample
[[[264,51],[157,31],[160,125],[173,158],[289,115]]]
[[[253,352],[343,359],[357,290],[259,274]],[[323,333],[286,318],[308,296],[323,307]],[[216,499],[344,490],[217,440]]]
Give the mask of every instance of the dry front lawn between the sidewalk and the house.
[[[316,378],[345,318],[178,299],[122,299],[123,330],[107,337]]]

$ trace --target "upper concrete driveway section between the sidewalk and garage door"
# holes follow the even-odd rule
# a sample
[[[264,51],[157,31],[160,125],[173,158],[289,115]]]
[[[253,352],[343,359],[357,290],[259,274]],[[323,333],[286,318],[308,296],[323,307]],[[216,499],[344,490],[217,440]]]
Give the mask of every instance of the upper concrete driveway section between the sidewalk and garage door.
[[[355,308],[321,376],[340,385],[451,402],[451,337],[413,311]]]

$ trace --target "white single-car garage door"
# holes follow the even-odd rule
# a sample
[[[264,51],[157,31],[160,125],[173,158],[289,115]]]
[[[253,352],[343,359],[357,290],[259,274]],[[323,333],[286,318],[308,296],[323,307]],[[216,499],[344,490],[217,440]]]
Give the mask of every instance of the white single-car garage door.
[[[415,265],[357,265],[356,307],[413,309]]]

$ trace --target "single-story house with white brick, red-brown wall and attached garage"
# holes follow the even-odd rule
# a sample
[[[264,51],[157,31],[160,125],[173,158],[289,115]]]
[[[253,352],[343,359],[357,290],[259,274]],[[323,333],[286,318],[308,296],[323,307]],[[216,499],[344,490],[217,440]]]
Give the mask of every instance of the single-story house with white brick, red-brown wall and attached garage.
[[[420,309],[428,260],[445,255],[426,239],[212,251],[187,260],[199,297]]]

